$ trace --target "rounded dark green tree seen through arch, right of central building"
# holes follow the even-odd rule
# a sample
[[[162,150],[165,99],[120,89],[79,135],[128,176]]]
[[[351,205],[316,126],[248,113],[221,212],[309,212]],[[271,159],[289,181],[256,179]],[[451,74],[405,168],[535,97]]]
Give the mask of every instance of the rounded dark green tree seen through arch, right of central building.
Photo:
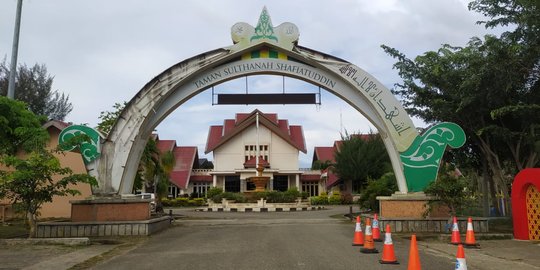
[[[343,180],[351,180],[359,187],[368,179],[378,179],[389,171],[390,159],[378,134],[345,134],[334,153],[334,172]]]

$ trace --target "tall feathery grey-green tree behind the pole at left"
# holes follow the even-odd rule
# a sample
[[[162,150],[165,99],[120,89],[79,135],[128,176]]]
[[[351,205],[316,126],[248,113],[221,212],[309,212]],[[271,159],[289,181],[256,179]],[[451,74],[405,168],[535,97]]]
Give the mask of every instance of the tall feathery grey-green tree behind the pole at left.
[[[0,95],[7,95],[9,67],[6,61],[0,63]],[[47,67],[35,64],[32,67],[19,66],[15,79],[15,99],[28,104],[30,111],[45,115],[48,119],[64,120],[73,110],[69,96],[52,90],[53,77]]]

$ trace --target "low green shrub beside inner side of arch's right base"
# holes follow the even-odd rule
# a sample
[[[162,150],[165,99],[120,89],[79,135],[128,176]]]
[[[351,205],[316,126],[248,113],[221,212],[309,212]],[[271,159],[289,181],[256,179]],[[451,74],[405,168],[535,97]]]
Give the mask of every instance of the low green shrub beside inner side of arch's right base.
[[[368,185],[360,194],[358,203],[362,208],[379,211],[377,196],[390,196],[398,190],[394,173],[386,173],[377,180],[368,180]]]

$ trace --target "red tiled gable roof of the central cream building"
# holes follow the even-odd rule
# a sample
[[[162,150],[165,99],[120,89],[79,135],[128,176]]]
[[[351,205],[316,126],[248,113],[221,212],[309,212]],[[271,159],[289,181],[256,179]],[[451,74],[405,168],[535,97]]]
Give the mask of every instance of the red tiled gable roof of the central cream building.
[[[289,126],[288,121],[278,120],[275,113],[262,113],[259,110],[237,113],[235,119],[226,119],[223,126],[211,126],[206,141],[205,153],[212,152],[241,131],[255,125],[255,115],[259,112],[259,124],[283,138],[286,142],[306,153],[306,143],[301,126]],[[233,125],[234,122],[234,125]]]

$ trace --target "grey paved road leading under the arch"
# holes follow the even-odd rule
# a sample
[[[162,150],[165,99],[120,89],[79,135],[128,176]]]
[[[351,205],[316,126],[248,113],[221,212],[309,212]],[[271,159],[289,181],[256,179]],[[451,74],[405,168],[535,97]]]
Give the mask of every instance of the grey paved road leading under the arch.
[[[345,208],[298,213],[176,212],[191,219],[94,269],[407,269],[409,241],[395,237],[400,265],[352,247],[354,225],[329,217]],[[232,215],[231,215],[232,214]],[[382,243],[376,243],[382,251]],[[419,247],[424,269],[453,269]]]

